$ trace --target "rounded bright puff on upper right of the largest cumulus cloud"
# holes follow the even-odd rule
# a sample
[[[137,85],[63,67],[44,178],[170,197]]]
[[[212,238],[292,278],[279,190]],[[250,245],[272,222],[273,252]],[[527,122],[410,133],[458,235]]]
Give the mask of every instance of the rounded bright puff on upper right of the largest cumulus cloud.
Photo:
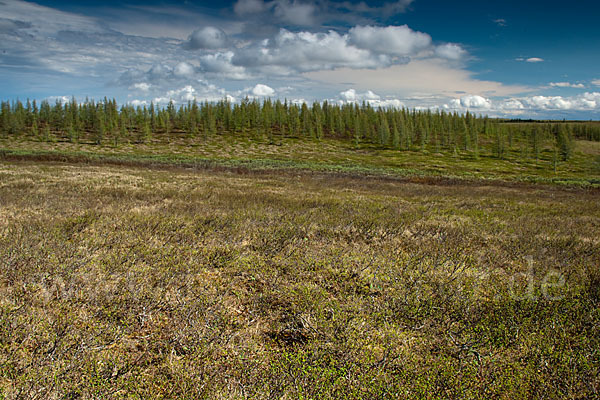
[[[350,29],[349,41],[360,49],[395,56],[410,56],[427,49],[431,36],[402,26],[356,26]]]

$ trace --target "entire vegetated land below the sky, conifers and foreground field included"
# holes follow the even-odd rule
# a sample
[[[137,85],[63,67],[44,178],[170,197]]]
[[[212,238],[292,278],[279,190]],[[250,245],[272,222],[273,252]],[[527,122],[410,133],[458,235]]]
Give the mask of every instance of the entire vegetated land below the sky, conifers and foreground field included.
[[[0,398],[598,396],[597,124],[19,104]]]

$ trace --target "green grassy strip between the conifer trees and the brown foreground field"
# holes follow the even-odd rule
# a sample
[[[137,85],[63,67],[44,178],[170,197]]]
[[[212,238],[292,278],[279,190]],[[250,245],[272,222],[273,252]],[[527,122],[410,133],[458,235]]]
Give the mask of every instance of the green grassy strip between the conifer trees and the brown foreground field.
[[[117,164],[221,165],[249,169],[304,169],[351,174],[450,177],[470,180],[505,180],[600,186],[600,143],[579,140],[568,162],[554,170],[552,152],[539,160],[523,157],[519,146],[498,159],[483,150],[475,157],[469,151],[398,151],[335,139],[282,138],[279,145],[249,137],[215,135],[207,139],[186,135],[156,135],[147,143],[103,145],[82,141],[70,143],[55,138],[38,141],[31,137],[0,138],[0,159],[27,156],[39,159],[103,160]],[[482,144],[483,146],[483,144]],[[487,145],[490,147],[491,145]]]

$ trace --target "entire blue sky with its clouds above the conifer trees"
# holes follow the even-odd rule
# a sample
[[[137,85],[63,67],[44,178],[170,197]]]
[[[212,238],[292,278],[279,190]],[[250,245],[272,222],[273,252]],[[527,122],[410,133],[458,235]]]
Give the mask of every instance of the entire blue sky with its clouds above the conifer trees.
[[[600,119],[600,2],[0,0],[0,98]]]

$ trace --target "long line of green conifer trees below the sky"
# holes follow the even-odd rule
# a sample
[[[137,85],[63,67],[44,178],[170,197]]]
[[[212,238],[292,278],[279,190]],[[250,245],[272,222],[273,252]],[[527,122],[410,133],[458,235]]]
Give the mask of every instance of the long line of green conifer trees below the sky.
[[[98,145],[121,142],[145,143],[153,138],[187,135],[208,139],[214,135],[241,135],[281,143],[296,137],[320,140],[336,138],[356,147],[375,145],[395,150],[480,152],[497,158],[518,151],[539,159],[542,152],[568,160],[575,138],[600,141],[600,124],[503,123],[469,112],[375,108],[369,103],[335,104],[324,101],[296,104],[281,100],[244,99],[231,103],[198,103],[164,107],[150,103],[134,107],[116,100],[78,103],[27,100],[3,101],[0,109],[3,137],[32,136],[40,140],[60,138]]]

